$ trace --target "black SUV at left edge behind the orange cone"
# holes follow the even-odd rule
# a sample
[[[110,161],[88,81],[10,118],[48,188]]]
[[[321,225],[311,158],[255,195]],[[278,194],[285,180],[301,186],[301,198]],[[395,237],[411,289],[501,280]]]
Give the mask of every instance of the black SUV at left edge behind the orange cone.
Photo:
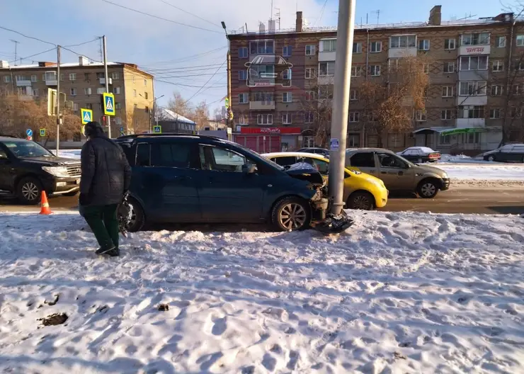
[[[38,204],[40,195],[74,196],[80,188],[80,162],[56,157],[36,142],[0,136],[0,191],[21,203]]]

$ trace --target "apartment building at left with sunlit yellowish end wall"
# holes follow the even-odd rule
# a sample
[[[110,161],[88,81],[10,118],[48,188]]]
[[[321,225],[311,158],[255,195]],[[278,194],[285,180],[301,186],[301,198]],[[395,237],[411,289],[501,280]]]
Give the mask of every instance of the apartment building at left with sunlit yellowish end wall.
[[[137,129],[149,130],[150,111],[154,101],[153,76],[137,68],[136,64],[108,62],[109,90],[115,95],[115,116],[111,118],[111,135],[131,133]],[[80,115],[80,108],[91,109],[93,118],[105,123],[101,94],[106,90],[106,74],[100,62],[79,57],[79,62],[60,64],[57,77],[56,62],[38,62],[33,65],[10,66],[0,62],[0,87],[4,92],[16,93],[21,98],[47,101],[47,89],[57,88],[72,101],[72,110]]]

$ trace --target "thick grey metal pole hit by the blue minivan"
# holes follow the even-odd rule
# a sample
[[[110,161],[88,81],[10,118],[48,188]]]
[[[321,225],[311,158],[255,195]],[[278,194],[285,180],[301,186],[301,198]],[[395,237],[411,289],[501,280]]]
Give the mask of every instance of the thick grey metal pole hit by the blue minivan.
[[[335,86],[333,118],[329,142],[329,197],[331,213],[340,214],[343,202],[344,166],[346,163],[346,138],[348,133],[349,90],[351,84],[351,57],[355,0],[338,1],[338,29],[336,42]]]

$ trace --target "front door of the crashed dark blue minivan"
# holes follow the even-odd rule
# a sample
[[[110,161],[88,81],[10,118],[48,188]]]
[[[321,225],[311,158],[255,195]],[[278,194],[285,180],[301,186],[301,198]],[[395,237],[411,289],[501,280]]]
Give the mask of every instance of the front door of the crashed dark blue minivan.
[[[258,222],[262,215],[265,179],[246,173],[251,160],[222,146],[199,146],[198,193],[207,222]]]

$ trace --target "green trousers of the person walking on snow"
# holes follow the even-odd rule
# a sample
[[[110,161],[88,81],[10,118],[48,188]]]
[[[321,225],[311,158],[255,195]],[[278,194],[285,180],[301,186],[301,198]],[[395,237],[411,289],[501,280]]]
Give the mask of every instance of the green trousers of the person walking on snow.
[[[118,205],[86,206],[83,216],[101,248],[118,248]]]

